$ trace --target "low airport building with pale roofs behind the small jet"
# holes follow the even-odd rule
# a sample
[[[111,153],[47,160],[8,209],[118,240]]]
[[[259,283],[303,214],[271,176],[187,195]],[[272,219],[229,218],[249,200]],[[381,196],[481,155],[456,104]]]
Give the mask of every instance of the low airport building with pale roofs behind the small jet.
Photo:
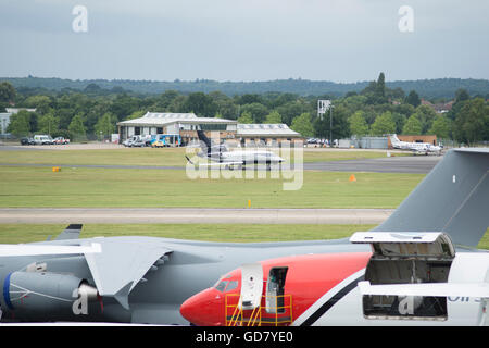
[[[235,146],[276,146],[284,140],[303,140],[286,124],[238,124],[235,120],[199,117],[193,113],[147,112],[142,117],[118,122],[117,128],[120,142],[134,135],[173,134],[179,135],[185,146],[198,141],[198,129],[209,137],[218,132],[221,139]]]

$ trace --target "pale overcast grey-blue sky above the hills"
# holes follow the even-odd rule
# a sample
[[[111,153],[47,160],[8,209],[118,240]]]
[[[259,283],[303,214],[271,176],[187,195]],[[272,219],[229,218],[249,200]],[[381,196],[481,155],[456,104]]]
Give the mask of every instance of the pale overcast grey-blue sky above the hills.
[[[0,0],[0,76],[489,79],[488,17],[487,0]]]

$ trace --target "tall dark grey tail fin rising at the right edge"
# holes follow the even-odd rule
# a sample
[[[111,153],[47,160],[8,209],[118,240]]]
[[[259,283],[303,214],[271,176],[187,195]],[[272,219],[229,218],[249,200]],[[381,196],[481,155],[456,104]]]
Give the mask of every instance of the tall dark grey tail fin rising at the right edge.
[[[476,247],[489,226],[489,149],[452,149],[378,232],[444,232]]]

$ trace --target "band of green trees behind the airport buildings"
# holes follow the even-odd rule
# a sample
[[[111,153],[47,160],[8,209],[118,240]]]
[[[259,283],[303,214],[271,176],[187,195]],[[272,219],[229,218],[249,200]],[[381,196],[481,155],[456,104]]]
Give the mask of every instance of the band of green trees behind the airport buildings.
[[[333,112],[317,116],[317,100],[333,101]],[[432,99],[432,102],[447,99]],[[184,94],[166,90],[158,95],[104,89],[90,84],[83,90],[15,89],[0,83],[0,112],[9,104],[36,108],[11,116],[8,132],[15,136],[43,133],[71,139],[109,138],[116,123],[146,112],[193,112],[199,116],[238,120],[240,123],[285,123],[304,137],[334,138],[383,136],[385,134],[435,134],[441,139],[473,144],[489,140],[487,99],[459,89],[450,111],[437,113],[422,104],[417,91],[387,87],[380,73],[360,91],[342,97],[301,96],[291,92],[243,94],[222,91]],[[330,122],[330,115],[333,120]]]

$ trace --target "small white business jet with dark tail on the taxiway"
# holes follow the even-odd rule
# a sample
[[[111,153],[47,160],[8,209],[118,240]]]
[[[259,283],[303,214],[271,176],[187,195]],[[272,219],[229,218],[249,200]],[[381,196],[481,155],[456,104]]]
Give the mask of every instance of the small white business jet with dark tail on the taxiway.
[[[242,169],[247,164],[266,164],[271,170],[273,164],[280,164],[284,159],[272,151],[266,150],[236,150],[229,151],[224,144],[213,145],[203,130],[197,130],[202,151],[198,153],[201,158],[206,158],[216,165],[224,165],[226,169]],[[187,156],[187,161],[195,164]],[[202,165],[202,164],[201,164]],[[212,164],[211,164],[212,165]]]

